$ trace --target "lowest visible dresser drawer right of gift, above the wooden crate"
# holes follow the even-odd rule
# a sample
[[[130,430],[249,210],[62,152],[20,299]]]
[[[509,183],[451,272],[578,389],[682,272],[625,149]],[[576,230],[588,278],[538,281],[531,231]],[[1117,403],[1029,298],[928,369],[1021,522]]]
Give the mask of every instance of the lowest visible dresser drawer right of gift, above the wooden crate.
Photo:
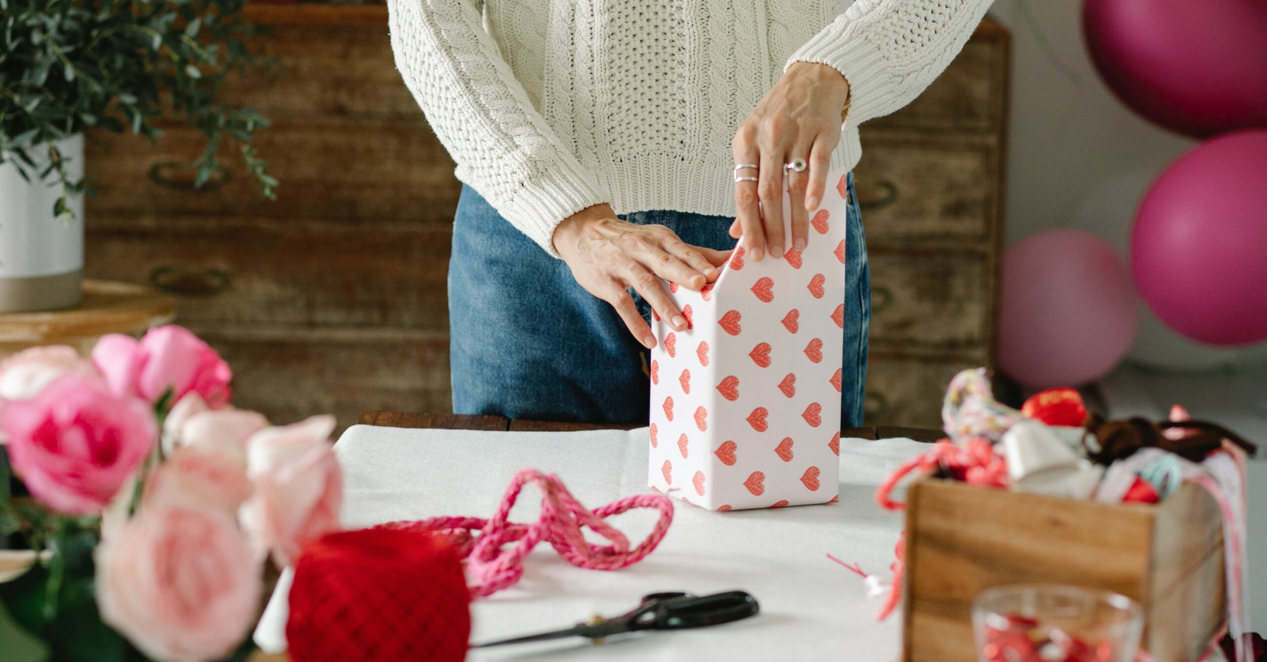
[[[924,362],[872,356],[867,363],[867,425],[941,428],[941,396],[960,370],[984,362]]]

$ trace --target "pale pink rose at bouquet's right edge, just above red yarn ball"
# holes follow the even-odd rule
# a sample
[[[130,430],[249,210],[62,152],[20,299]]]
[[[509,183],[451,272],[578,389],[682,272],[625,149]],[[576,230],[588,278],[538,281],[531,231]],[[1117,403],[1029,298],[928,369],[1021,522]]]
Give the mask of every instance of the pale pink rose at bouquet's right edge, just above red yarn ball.
[[[246,518],[277,566],[299,558],[309,542],[340,529],[343,477],[329,444],[334,416],[266,428],[247,442],[255,496]]]

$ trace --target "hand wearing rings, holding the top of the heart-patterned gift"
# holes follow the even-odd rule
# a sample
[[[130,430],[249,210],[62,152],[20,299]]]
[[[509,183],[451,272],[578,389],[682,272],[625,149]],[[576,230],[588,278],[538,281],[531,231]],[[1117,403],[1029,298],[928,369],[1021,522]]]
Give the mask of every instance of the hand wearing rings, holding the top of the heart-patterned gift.
[[[741,168],[736,181],[735,204],[739,215],[730,235],[748,235],[748,256],[760,261],[768,252],[779,257],[788,246],[783,234],[784,165],[796,158],[808,162],[808,170],[786,171],[792,194],[791,246],[805,249],[808,238],[807,211],[818,206],[827,182],[831,151],[840,142],[840,113],[849,100],[849,81],[832,67],[797,62],[788,67],[744,120],[731,144],[735,165]],[[760,203],[760,206],[758,206]]]

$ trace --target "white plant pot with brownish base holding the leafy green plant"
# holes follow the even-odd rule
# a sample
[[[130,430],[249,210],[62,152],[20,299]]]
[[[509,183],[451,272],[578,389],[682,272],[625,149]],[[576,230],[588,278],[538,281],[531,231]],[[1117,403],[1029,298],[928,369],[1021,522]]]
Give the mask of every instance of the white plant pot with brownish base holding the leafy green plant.
[[[67,159],[68,177],[75,181],[84,177],[84,135],[56,144]],[[47,153],[35,152],[42,170]],[[56,178],[28,184],[13,163],[0,163],[0,313],[57,310],[79,304],[84,196],[67,200],[75,218],[63,222],[53,216],[53,204],[61,195]]]

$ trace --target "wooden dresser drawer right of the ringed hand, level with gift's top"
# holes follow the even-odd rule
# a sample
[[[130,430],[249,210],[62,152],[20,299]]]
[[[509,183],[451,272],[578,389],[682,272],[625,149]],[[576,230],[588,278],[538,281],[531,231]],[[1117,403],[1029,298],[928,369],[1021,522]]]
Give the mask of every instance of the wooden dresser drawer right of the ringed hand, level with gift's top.
[[[864,129],[855,184],[868,240],[992,242],[998,168],[998,149],[988,142]]]

